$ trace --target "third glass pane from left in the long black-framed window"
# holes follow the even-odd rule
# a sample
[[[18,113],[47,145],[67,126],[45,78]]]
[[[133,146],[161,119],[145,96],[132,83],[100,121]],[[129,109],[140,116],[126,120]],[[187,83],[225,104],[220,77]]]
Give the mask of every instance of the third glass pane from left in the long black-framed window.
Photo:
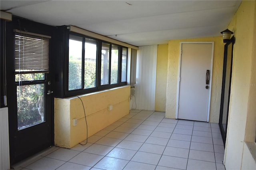
[[[102,43],[100,85],[109,84],[109,49],[110,44]]]

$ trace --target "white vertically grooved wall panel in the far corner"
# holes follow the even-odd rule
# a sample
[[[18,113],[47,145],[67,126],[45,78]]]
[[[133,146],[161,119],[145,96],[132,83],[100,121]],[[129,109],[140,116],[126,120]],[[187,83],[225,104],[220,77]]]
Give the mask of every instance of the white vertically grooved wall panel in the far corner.
[[[154,111],[157,45],[139,47],[137,53],[136,109]],[[135,109],[135,108],[134,108]]]

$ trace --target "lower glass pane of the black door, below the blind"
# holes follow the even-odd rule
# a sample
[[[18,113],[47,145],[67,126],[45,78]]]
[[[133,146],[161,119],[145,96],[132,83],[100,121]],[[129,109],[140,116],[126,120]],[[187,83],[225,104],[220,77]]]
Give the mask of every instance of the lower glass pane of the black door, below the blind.
[[[44,84],[17,86],[18,130],[44,119]]]

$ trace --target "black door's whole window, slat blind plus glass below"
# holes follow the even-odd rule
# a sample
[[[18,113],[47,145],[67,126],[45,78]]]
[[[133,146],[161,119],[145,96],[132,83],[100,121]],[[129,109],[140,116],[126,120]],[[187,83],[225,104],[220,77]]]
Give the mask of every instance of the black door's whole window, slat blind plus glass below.
[[[44,81],[49,71],[49,38],[15,33],[15,82],[18,130],[45,121]]]

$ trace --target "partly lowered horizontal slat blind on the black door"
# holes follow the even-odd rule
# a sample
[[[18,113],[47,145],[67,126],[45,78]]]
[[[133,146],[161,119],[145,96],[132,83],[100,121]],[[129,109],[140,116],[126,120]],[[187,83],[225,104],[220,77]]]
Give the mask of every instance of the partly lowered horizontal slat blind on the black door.
[[[49,73],[49,38],[15,32],[15,73]]]

